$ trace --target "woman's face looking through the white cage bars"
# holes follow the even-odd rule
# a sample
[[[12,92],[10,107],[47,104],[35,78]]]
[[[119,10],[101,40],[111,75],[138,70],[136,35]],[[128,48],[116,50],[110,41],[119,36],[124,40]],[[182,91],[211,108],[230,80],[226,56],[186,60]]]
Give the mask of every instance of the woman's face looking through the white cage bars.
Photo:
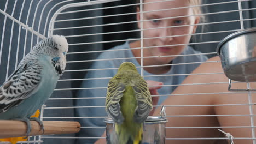
[[[156,2],[161,0],[145,0],[147,2]],[[156,2],[143,4],[143,11],[170,9],[178,7],[187,7],[189,3],[187,0],[176,0],[168,2]],[[139,12],[139,9],[138,9]],[[164,19],[164,20],[153,20],[161,19],[166,17],[177,17],[193,15],[193,8],[183,8],[183,9],[172,9],[164,11],[152,11],[149,13],[143,13],[143,20],[149,20],[143,22],[143,29],[148,29],[143,31],[144,39],[143,47],[156,46],[154,48],[144,49],[144,56],[168,56],[168,55],[179,55],[184,50],[187,45],[178,46],[166,46],[166,45],[177,45],[177,44],[188,44],[191,35],[182,37],[167,37],[172,35],[183,35],[195,33],[196,26],[184,26],[184,27],[172,27],[170,26],[182,26],[182,25],[193,25],[199,22],[199,17],[180,17],[174,19]],[[137,14],[137,19],[141,20],[140,14]],[[141,28],[141,23],[138,22],[138,27]],[[164,28],[160,28],[164,27]],[[150,29],[149,29],[150,28]],[[156,28],[156,29],[151,29]],[[166,38],[167,37],[167,38]],[[161,64],[167,64],[172,61],[175,57],[156,57],[154,60]]]

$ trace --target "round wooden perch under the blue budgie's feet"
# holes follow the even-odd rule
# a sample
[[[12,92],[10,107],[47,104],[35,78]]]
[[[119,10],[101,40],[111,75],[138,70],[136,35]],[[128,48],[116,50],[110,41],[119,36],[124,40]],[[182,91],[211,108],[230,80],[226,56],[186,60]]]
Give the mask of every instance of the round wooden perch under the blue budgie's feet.
[[[52,134],[70,134],[77,133],[80,130],[79,122],[67,121],[43,121],[44,133],[40,130],[39,123],[31,122],[30,136],[34,135],[52,135]],[[27,124],[22,121],[0,121],[0,138],[26,136]]]

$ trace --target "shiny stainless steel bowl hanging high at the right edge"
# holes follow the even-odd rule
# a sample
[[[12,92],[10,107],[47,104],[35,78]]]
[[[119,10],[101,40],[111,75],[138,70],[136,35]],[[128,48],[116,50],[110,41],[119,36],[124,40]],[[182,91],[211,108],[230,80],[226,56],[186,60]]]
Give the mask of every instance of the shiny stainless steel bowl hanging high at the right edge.
[[[225,75],[234,81],[256,81],[256,27],[228,35],[217,46]]]

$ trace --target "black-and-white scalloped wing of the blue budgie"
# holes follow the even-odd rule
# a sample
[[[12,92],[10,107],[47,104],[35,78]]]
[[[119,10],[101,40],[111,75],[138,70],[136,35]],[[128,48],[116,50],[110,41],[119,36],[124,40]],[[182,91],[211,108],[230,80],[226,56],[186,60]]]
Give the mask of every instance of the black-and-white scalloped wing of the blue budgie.
[[[20,104],[37,91],[41,71],[42,67],[34,61],[26,62],[14,71],[0,87],[0,113]]]

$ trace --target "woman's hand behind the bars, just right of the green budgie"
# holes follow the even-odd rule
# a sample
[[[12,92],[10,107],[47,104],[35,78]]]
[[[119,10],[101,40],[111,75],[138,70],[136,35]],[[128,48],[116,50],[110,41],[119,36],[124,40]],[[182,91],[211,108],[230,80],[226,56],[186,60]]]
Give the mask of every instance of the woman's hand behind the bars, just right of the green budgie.
[[[163,85],[163,83],[158,81],[152,81],[152,80],[147,80],[146,82],[148,83],[150,94],[159,95],[157,89],[161,88],[162,87],[161,85]],[[153,86],[153,87],[150,87],[150,86]],[[152,98],[152,104],[157,105],[159,97],[151,97],[151,98]],[[153,110],[149,113],[149,115],[152,115],[154,113],[154,110],[155,108],[153,108]]]

